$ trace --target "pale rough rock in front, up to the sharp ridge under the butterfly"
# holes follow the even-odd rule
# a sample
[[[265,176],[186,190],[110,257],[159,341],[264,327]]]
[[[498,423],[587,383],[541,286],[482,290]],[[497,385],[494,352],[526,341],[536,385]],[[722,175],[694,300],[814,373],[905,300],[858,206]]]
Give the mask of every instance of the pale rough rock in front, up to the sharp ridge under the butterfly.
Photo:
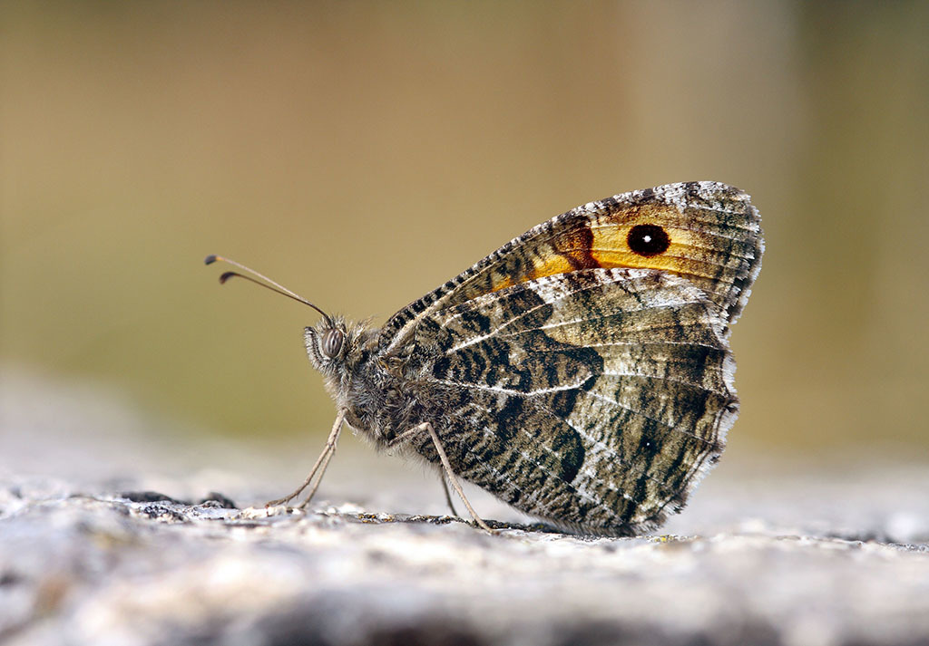
[[[910,544],[887,527],[838,536],[762,522],[703,536],[584,538],[515,524],[489,536],[447,516],[208,498],[7,478],[0,640],[929,642],[929,532],[919,519],[896,521]]]

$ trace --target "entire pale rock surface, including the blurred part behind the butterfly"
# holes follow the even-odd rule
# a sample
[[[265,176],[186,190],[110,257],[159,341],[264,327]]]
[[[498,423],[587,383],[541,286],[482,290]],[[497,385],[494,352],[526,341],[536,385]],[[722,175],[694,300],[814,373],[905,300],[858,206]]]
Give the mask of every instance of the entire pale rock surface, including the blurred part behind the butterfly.
[[[4,646],[929,643],[924,463],[761,459],[737,434],[663,536],[517,525],[469,488],[514,523],[488,536],[382,513],[442,513],[435,474],[348,434],[318,510],[265,510],[321,439],[250,448],[0,381]]]

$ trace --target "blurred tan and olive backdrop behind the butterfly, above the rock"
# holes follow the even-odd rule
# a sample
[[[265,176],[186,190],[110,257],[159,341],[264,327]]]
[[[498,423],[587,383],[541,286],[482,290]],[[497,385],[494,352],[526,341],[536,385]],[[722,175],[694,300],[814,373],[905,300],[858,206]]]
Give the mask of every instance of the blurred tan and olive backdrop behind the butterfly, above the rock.
[[[0,452],[206,438],[298,478],[334,415],[316,317],[220,288],[207,253],[379,324],[557,213],[713,179],[767,242],[724,464],[926,459],[927,25],[924,2],[2,3]]]

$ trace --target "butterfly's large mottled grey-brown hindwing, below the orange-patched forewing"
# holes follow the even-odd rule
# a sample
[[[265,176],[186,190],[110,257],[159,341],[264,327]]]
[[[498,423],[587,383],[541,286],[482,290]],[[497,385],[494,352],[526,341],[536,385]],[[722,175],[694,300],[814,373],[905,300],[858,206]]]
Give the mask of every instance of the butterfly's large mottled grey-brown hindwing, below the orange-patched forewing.
[[[725,328],[683,278],[585,269],[420,317],[406,373],[466,480],[562,526],[635,534],[723,449],[738,408]]]

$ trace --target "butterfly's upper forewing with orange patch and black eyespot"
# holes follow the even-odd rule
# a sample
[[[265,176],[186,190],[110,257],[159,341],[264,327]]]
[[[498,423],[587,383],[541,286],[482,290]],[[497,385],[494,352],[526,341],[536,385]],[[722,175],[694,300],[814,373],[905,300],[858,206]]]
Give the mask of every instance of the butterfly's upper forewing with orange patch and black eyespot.
[[[761,268],[761,220],[748,195],[719,182],[623,193],[558,215],[400,310],[382,329],[397,347],[417,317],[522,282],[583,269],[641,267],[674,273],[705,291],[729,323]]]

